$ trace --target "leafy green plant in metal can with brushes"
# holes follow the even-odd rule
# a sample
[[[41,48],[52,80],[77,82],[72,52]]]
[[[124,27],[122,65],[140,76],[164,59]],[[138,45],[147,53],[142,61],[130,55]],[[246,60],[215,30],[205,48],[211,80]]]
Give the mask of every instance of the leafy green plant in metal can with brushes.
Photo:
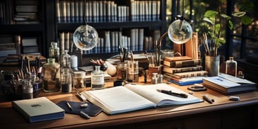
[[[225,2],[225,0],[221,0],[221,3],[223,2]],[[242,4],[240,11],[233,12],[232,16],[240,18],[241,22],[245,25],[250,24],[251,18],[248,17],[246,11],[244,11],[244,7],[250,5],[252,4]],[[203,43],[206,50],[205,69],[209,72],[209,76],[217,76],[219,73],[220,56],[218,55],[218,47],[221,47],[221,45],[225,43],[225,39],[221,36],[221,33],[225,26],[228,26],[230,30],[233,28],[231,19],[231,16],[222,13],[220,8],[218,8],[217,11],[208,10],[204,13],[204,21],[211,25],[208,27],[210,43],[208,43],[206,33],[203,34]]]

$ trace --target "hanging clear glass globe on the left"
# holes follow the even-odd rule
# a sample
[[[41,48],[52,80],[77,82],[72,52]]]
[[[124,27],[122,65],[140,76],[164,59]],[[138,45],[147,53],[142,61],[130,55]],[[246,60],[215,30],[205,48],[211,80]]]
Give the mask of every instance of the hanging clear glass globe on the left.
[[[98,32],[92,26],[79,26],[74,31],[74,45],[81,50],[91,50],[98,44]]]

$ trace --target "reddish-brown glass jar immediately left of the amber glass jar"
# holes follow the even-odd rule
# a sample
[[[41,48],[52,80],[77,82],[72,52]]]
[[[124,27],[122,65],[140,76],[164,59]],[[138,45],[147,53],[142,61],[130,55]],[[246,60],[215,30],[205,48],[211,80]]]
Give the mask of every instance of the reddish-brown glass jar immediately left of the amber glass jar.
[[[127,63],[117,63],[117,80],[127,79]]]

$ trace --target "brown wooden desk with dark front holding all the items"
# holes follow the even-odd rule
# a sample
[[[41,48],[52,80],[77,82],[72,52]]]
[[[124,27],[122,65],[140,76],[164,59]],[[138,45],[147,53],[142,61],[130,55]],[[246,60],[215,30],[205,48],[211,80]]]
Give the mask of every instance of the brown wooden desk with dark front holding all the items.
[[[107,82],[107,85],[112,85]],[[176,86],[187,91],[187,86]],[[108,116],[100,113],[89,120],[74,114],[65,114],[64,119],[47,120],[38,123],[28,123],[16,110],[11,102],[0,103],[1,128],[257,128],[258,92],[237,94],[240,101],[229,101],[229,96],[218,92],[194,92],[200,99],[209,94],[215,99],[213,104],[194,103],[184,106],[152,108],[131,113],[122,113]],[[40,93],[38,96],[47,96],[57,103],[59,101],[80,101],[73,91],[71,94]]]

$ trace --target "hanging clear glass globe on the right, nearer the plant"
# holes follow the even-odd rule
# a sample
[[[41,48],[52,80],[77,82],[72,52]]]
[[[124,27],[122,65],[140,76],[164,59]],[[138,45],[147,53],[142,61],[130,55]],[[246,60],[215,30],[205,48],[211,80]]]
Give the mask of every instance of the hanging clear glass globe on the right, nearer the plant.
[[[168,37],[173,43],[187,43],[192,37],[192,26],[187,21],[178,19],[168,27]]]

